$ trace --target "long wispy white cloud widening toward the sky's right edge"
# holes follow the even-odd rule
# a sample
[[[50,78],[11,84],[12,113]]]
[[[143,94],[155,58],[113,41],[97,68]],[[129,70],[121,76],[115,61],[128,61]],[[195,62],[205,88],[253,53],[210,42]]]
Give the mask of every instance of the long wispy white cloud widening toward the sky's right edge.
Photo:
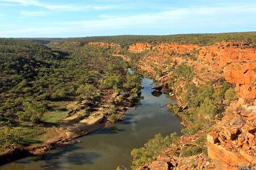
[[[240,11],[240,12],[237,12]],[[243,15],[242,15],[243,14]],[[98,20],[62,23],[76,25],[85,30],[106,30],[122,28],[200,28],[219,25],[242,24],[255,18],[255,6],[240,7],[188,7],[169,11],[131,16],[100,15]],[[244,16],[247,16],[245,18]],[[240,21],[237,23],[237,21]]]

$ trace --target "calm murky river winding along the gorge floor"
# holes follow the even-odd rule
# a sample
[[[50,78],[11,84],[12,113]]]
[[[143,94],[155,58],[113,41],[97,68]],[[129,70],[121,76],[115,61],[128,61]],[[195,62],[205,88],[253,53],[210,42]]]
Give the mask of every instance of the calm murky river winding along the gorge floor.
[[[180,119],[167,107],[175,103],[170,96],[152,93],[151,79],[142,79],[142,99],[137,107],[130,108],[125,121],[96,130],[80,140],[81,143],[66,145],[39,156],[28,156],[3,165],[0,169],[116,169],[118,165],[130,169],[131,150],[139,148],[157,133],[180,134]]]

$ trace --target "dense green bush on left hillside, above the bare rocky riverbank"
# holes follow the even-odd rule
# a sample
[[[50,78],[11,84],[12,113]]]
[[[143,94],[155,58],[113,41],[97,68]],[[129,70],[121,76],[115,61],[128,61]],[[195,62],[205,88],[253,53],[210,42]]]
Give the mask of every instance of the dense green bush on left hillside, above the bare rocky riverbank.
[[[65,105],[72,101],[88,108],[113,92],[117,94],[113,107],[137,100],[141,77],[127,73],[127,63],[112,57],[112,49],[89,45],[55,48],[0,39],[2,148],[20,141],[29,143],[31,135],[46,133],[37,124],[59,125],[61,119],[71,116],[68,112],[72,108]]]

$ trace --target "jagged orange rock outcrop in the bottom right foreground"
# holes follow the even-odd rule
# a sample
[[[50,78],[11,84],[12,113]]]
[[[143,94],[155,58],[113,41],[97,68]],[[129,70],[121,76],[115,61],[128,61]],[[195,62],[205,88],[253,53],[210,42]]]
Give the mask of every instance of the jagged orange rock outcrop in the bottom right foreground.
[[[226,110],[220,124],[207,136],[208,156],[217,162],[217,169],[256,164],[256,106],[236,105]]]

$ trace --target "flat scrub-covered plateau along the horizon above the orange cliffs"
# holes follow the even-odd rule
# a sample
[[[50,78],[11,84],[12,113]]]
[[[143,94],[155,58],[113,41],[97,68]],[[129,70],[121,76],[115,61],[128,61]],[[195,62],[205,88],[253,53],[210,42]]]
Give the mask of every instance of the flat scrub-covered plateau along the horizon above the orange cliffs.
[[[30,39],[31,40],[31,39]],[[88,42],[115,42],[121,45],[122,48],[128,48],[130,44],[135,42],[150,42],[157,44],[159,42],[177,42],[179,44],[197,44],[210,45],[221,41],[240,41],[250,44],[256,42],[256,32],[235,32],[235,33],[206,33],[206,34],[184,34],[184,35],[166,35],[166,36],[99,36],[99,37],[82,37],[69,39],[32,39],[46,43],[47,41],[79,41],[81,45]]]

